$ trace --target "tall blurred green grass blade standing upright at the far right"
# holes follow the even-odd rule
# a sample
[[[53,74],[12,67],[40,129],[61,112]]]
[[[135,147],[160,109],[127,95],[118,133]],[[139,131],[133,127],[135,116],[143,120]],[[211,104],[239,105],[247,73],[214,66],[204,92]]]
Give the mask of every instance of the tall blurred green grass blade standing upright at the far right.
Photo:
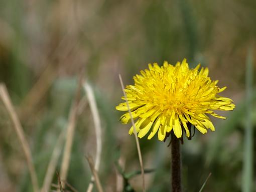
[[[246,58],[246,121],[244,135],[244,154],[243,154],[243,174],[242,174],[242,191],[249,192],[252,189],[253,177],[253,126],[252,126],[252,86],[253,86],[253,59],[252,46],[248,50]]]

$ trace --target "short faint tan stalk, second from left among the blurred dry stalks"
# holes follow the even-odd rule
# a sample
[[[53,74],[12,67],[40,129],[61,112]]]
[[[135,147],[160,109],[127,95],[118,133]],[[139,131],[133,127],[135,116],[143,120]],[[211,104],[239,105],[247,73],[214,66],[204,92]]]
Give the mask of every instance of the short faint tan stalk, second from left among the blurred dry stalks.
[[[61,132],[57,143],[53,149],[52,152],[52,156],[51,156],[51,160],[48,164],[48,168],[45,174],[45,178],[44,178],[44,182],[43,182],[43,187],[41,189],[41,192],[46,192],[49,191],[51,183],[52,183],[52,179],[55,173],[55,169],[58,163],[58,159],[60,157],[61,154],[61,149],[63,146],[63,141],[64,141],[64,134],[65,134],[65,129],[63,129],[63,131]]]

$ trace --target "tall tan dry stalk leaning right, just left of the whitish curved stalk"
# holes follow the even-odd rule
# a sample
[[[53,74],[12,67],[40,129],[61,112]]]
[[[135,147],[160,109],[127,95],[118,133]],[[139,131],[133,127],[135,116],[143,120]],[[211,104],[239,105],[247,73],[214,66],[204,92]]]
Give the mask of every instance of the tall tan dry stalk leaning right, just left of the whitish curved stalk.
[[[76,119],[77,119],[77,109],[78,109],[78,104],[80,99],[80,91],[82,87],[82,79],[83,79],[83,70],[79,77],[78,88],[76,90],[75,98],[69,113],[69,120],[67,125],[67,132],[66,132],[66,143],[65,143],[63,159],[62,159],[62,164],[60,169],[60,177],[62,180],[66,180],[68,168],[69,168],[71,148],[73,144],[73,137],[74,137]],[[63,187],[65,187],[65,183],[63,183]]]

